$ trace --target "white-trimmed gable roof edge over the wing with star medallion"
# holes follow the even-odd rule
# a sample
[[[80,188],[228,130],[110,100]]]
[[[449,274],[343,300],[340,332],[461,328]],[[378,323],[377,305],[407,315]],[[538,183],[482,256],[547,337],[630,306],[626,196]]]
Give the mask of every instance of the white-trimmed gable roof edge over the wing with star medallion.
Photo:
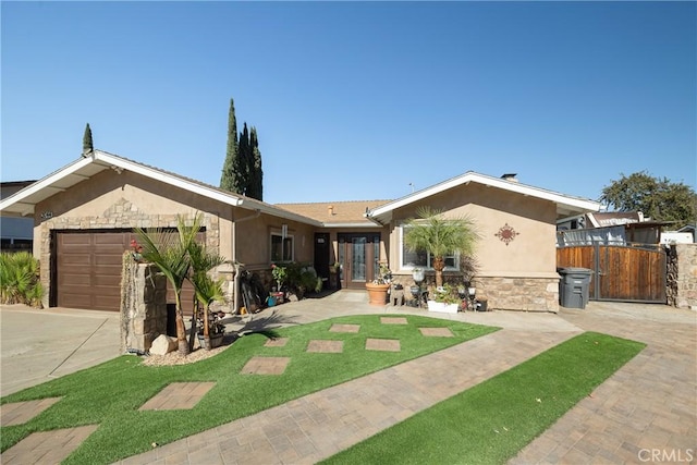
[[[600,210],[600,203],[595,200],[583,197],[572,197],[553,191],[534,187],[527,184],[523,184],[514,179],[493,178],[486,174],[475,173],[474,171],[467,171],[466,173],[458,176],[443,181],[425,189],[417,191],[386,205],[376,207],[366,212],[366,217],[377,222],[378,224],[387,224],[392,219],[392,213],[394,210],[423,200],[432,195],[440,194],[450,188],[466,185],[469,183],[477,183],[489,187],[496,187],[512,193],[522,194],[528,197],[552,201],[557,204],[557,218],[564,218],[573,215],[582,215],[587,211]]]

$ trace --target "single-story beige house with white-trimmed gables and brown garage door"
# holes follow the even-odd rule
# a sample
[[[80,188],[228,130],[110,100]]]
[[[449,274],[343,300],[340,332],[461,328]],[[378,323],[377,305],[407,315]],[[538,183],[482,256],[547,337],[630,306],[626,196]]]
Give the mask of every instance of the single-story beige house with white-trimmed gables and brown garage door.
[[[178,216],[201,212],[207,246],[269,282],[272,262],[310,262],[328,278],[338,261],[341,286],[365,289],[378,261],[388,261],[394,280],[406,284],[415,265],[428,269],[430,257],[402,243],[402,224],[420,206],[475,220],[481,235],[476,284],[489,307],[541,311],[559,305],[557,221],[600,208],[474,172],[391,201],[270,205],[95,150],[3,199],[0,211],[35,218],[34,253],[49,290],[45,305],[118,310],[121,259],[133,228],[174,228]],[[458,276],[458,259],[449,257],[447,277]],[[232,274],[219,271],[232,293]]]

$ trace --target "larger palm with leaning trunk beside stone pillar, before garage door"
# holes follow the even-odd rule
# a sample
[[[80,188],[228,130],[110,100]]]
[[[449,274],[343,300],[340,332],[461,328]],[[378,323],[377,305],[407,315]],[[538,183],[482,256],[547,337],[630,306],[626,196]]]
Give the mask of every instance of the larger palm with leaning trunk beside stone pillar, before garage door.
[[[186,225],[184,218],[178,217],[176,233],[158,230],[147,233],[140,228],[135,231],[143,246],[143,258],[157,266],[168,279],[174,290],[176,302],[176,341],[179,353],[188,355],[186,343],[186,327],[184,326],[184,310],[182,309],[182,285],[192,267],[189,249],[196,241],[200,230],[201,216],[196,215],[191,225]]]

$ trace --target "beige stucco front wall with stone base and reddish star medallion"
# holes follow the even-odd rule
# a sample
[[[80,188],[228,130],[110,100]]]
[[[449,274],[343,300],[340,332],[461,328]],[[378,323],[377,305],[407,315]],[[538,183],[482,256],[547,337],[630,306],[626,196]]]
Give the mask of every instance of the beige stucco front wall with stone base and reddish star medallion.
[[[420,206],[442,210],[449,217],[467,216],[480,240],[476,246],[479,271],[475,284],[489,298],[490,308],[526,311],[559,309],[559,274],[555,256],[557,206],[521,194],[479,184],[463,185],[395,211],[390,224],[390,266],[400,281],[411,285],[411,270],[401,268],[400,244],[404,220]],[[506,245],[497,233],[504,225],[516,235]],[[428,273],[427,273],[428,274]],[[445,272],[445,279],[460,279]]]

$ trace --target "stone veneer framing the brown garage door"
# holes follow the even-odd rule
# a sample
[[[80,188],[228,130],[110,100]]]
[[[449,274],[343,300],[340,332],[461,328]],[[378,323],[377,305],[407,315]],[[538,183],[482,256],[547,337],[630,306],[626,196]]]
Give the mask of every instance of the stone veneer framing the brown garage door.
[[[51,289],[51,232],[54,230],[176,228],[178,223],[178,215],[150,215],[140,211],[135,205],[124,198],[113,204],[99,217],[61,216],[46,220],[41,222],[39,227],[41,285],[44,285],[44,289]],[[220,253],[219,218],[215,215],[204,215],[201,225],[206,228],[206,247],[213,253]],[[228,276],[225,276],[225,279],[228,279]],[[229,296],[227,295],[225,297]],[[49,293],[47,292],[42,302],[47,308],[49,306],[48,299]]]

